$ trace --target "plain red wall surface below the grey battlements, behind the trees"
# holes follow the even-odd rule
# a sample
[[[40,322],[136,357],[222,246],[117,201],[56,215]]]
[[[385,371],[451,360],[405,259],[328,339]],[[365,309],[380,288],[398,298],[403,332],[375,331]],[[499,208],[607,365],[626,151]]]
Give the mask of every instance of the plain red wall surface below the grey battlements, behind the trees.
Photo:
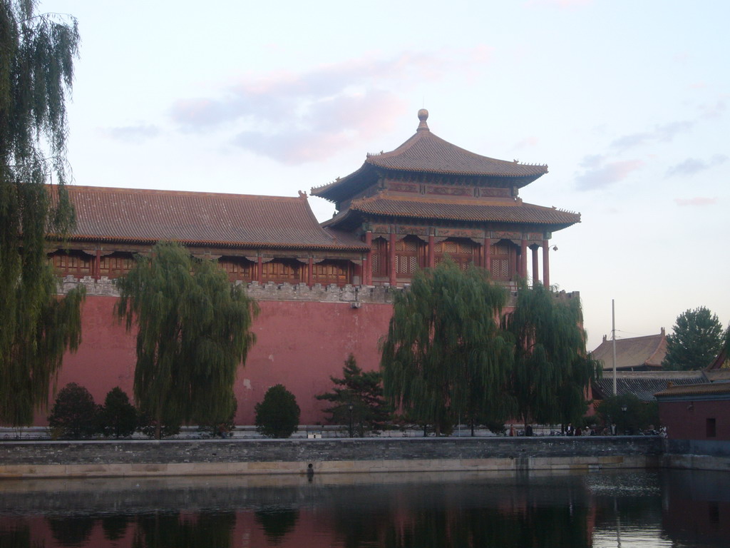
[[[135,338],[112,316],[116,297],[89,295],[82,313],[82,343],[75,354],[66,354],[58,376],[60,389],[69,382],[86,387],[96,403],[104,403],[118,386],[131,398],[134,382]],[[325,423],[326,402],[315,395],[332,388],[330,376],[342,377],[342,366],[353,354],[364,370],[380,362],[378,340],[388,331],[392,306],[363,302],[259,301],[254,323],[257,342],[235,384],[238,400],[236,423],[253,425],[254,406],[274,384],[283,384],[296,396],[300,423]],[[53,399],[51,404],[53,404]],[[45,425],[46,414],[37,416]]]

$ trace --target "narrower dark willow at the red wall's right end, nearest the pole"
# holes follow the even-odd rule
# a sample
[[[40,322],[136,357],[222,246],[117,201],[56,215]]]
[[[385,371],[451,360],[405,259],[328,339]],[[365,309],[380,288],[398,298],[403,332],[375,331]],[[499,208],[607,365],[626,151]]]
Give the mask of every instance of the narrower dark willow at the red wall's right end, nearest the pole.
[[[541,284],[520,286],[504,327],[515,341],[512,393],[525,427],[530,422],[577,422],[586,391],[599,378],[598,362],[585,351],[580,300]]]

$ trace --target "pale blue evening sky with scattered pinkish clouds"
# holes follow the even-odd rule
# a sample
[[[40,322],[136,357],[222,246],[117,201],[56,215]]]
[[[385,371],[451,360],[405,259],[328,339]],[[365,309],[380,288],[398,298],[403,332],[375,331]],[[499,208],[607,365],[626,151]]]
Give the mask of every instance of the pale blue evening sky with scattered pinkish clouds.
[[[296,196],[434,134],[549,172],[525,202],[580,212],[550,281],[588,349],[730,322],[726,0],[42,0],[82,39],[74,183]],[[310,197],[320,221],[334,206]],[[285,220],[283,220],[285,221]]]

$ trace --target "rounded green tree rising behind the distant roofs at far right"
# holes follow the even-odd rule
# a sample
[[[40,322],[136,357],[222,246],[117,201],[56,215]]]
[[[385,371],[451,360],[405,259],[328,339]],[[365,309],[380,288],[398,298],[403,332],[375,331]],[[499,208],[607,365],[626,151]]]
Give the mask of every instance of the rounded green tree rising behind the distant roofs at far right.
[[[723,346],[723,326],[718,316],[704,306],[677,316],[672,335],[666,335],[666,370],[704,369]]]

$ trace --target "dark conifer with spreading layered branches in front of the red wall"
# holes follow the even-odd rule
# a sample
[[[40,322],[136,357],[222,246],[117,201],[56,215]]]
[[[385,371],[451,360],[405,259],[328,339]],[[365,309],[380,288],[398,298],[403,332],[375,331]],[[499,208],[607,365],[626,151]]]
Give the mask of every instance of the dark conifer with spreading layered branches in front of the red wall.
[[[332,392],[315,396],[334,405],[326,408],[331,424],[347,425],[350,438],[366,432],[381,430],[391,412],[383,398],[383,375],[380,371],[363,372],[358,368],[353,354],[345,360],[342,378],[330,377],[334,383]]]

